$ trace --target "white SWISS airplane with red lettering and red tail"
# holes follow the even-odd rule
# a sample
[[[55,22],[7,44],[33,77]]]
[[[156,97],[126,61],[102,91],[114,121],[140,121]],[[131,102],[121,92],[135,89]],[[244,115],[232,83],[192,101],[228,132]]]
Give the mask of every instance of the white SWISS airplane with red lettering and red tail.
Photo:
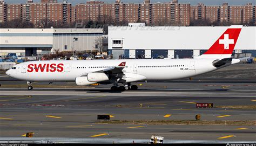
[[[228,27],[204,54],[194,59],[39,60],[17,64],[6,74],[27,81],[28,90],[33,89],[32,82],[113,84],[111,91],[137,90],[133,82],[190,78],[237,64],[240,60],[231,55],[241,29],[242,25]]]

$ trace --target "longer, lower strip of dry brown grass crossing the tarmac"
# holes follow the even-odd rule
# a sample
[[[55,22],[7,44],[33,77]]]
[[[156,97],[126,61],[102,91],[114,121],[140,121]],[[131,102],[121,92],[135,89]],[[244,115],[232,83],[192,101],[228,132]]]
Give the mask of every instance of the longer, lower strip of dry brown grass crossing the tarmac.
[[[149,125],[230,125],[230,126],[254,126],[255,120],[248,121],[197,121],[197,120],[138,120],[138,121],[127,121],[127,120],[110,120],[100,121],[98,124],[149,124]]]

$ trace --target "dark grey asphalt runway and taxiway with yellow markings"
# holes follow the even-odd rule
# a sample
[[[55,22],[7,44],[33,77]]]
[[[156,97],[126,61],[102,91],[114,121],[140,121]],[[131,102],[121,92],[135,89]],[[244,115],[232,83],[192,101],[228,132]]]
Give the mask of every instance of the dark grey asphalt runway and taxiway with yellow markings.
[[[238,66],[239,67],[239,66]],[[249,68],[249,75],[245,68]],[[219,78],[195,77],[195,80],[137,83],[138,91],[110,92],[111,85],[78,88],[74,83],[33,84],[27,91],[24,81],[0,77],[0,137],[98,137],[150,138],[164,136],[171,140],[255,141],[255,124],[228,125],[146,125],[99,124],[97,115],[111,115],[111,120],[256,120],[254,109],[221,106],[255,106],[254,65],[219,70]],[[236,77],[229,77],[232,72]],[[239,74],[240,72],[240,74]],[[224,74],[226,73],[226,75]],[[252,79],[254,78],[254,79]],[[24,85],[24,86],[23,86]],[[13,86],[13,87],[12,87]],[[196,108],[196,103],[213,103],[213,108]]]

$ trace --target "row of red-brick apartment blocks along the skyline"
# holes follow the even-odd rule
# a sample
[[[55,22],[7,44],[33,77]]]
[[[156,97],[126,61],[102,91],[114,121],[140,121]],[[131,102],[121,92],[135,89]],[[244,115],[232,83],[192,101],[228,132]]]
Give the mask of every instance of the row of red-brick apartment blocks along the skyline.
[[[231,22],[233,24],[255,23],[255,5],[247,3],[240,6],[230,6],[223,3],[220,6],[207,6],[198,3],[196,6],[180,4],[178,0],[166,0],[164,3],[105,3],[87,1],[72,6],[67,0],[41,0],[34,3],[28,0],[26,4],[6,4],[0,0],[0,23],[21,18],[36,26],[42,19],[52,22],[71,23],[78,20],[100,21],[103,23],[119,24],[122,22],[144,22],[147,25],[175,24],[190,25],[191,20],[208,19],[211,22]]]

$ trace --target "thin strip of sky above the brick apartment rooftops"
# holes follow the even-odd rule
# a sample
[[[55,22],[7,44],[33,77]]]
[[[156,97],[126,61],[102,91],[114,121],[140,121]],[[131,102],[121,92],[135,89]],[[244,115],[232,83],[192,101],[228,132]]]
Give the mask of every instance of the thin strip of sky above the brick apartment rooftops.
[[[26,0],[4,0],[6,3],[25,3]],[[105,3],[113,3],[115,0],[102,0]],[[142,3],[144,0],[121,0],[124,3]],[[151,0],[151,3],[156,2],[170,2],[171,0]],[[33,0],[33,2],[41,2],[41,0]],[[63,2],[63,0],[58,0]],[[68,0],[73,5],[77,3],[86,3],[86,0]],[[178,0],[179,3],[190,3],[191,5],[197,5],[197,3],[204,3],[205,5],[221,5],[222,3],[228,3],[228,5],[244,5],[246,3],[252,3],[256,5],[255,0]]]

